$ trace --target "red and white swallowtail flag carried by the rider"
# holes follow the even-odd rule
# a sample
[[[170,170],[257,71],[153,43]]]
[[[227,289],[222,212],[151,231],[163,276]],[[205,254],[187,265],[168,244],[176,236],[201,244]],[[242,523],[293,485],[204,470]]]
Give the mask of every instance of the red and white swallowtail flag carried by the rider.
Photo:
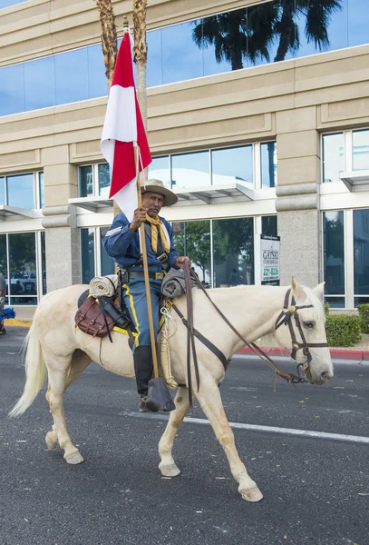
[[[123,35],[112,76],[100,147],[112,169],[109,197],[114,198],[130,222],[138,206],[135,145],[141,172],[152,159],[134,87],[131,38],[127,32]]]

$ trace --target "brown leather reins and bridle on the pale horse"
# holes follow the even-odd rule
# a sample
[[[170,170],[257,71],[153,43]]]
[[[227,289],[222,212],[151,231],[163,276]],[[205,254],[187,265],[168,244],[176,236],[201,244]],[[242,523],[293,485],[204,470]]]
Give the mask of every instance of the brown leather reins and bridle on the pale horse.
[[[192,305],[191,276],[195,280],[195,282],[197,283],[200,290],[205,293],[205,295],[209,299],[209,302],[211,302],[211,304],[213,305],[215,310],[218,312],[219,316],[224,320],[224,322],[227,323],[228,327],[232,330],[232,332],[234,332],[238,336],[238,339],[240,339],[242,342],[244,342],[245,345],[248,346],[248,348],[252,352],[254,352],[260,358],[260,360],[262,362],[264,362],[272,371],[276,372],[277,377],[282,377],[283,379],[285,379],[285,381],[287,381],[291,385],[305,382],[305,378],[302,376],[302,369],[306,372],[309,369],[309,363],[312,360],[311,353],[309,351],[309,347],[327,347],[328,346],[327,342],[316,342],[316,343],[307,343],[306,342],[306,338],[305,338],[304,332],[302,330],[300,320],[298,318],[297,310],[303,309],[303,308],[313,307],[312,304],[296,306],[295,297],[292,296],[291,305],[288,306],[289,296],[290,296],[290,292],[291,292],[291,290],[289,289],[286,292],[286,296],[285,296],[284,310],[279,314],[279,316],[277,318],[277,321],[276,321],[276,326],[275,326],[276,329],[278,327],[280,327],[282,324],[288,325],[288,329],[289,329],[289,332],[291,334],[291,339],[292,339],[292,351],[290,352],[291,357],[295,359],[296,352],[300,348],[303,349],[303,352],[306,355],[306,362],[297,364],[297,366],[296,366],[297,375],[296,375],[294,373],[290,373],[290,372],[287,372],[287,371],[283,370],[276,362],[274,362],[267,355],[266,352],[264,352],[261,348],[259,348],[257,346],[257,344],[255,344],[255,342],[248,342],[238,332],[238,330],[228,321],[228,318],[223,314],[223,312],[221,312],[218,309],[218,306],[215,304],[215,302],[213,302],[211,300],[211,298],[209,296],[209,293],[205,290],[204,286],[199,281],[198,276],[193,271],[189,270],[189,264],[186,263],[186,262],[184,263],[184,270],[183,271],[184,271],[184,278],[185,278],[185,285],[186,285],[188,322],[186,322],[184,320],[182,320],[182,322],[184,322],[184,324],[186,325],[186,327],[188,329],[188,336],[187,336],[187,372],[188,372],[188,378],[189,378],[189,403],[190,404],[191,404],[191,401],[192,401],[191,388],[190,388],[190,349],[192,349],[192,355],[193,355],[193,360],[194,360],[194,368],[195,368],[195,373],[196,373],[196,378],[197,378],[197,387],[198,387],[198,391],[199,391],[199,367],[198,367],[198,361],[197,361],[197,356],[196,356],[196,351],[195,351],[195,340],[194,340],[195,332],[196,333],[198,333],[198,332],[196,330],[194,330],[194,328],[193,328],[193,305]],[[298,331],[300,332],[302,342],[297,342],[297,340],[296,340],[296,334],[295,334],[295,331],[294,331],[294,328],[293,328],[293,325],[292,325],[292,322],[291,322],[291,316],[292,315],[294,315],[294,317],[295,317],[296,327],[297,327]]]

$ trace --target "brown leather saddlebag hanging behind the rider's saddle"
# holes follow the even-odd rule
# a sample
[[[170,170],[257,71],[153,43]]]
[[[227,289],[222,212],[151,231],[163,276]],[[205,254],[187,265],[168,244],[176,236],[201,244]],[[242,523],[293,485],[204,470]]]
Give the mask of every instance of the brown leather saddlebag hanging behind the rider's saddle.
[[[81,331],[93,337],[105,337],[108,330],[111,332],[115,325],[107,312],[102,313],[102,308],[94,297],[87,297],[75,314],[74,320]]]

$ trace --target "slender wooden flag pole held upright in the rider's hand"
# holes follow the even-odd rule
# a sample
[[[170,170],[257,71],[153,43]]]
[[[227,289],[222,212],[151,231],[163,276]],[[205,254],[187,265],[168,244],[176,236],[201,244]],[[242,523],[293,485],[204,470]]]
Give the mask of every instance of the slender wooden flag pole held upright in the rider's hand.
[[[139,157],[138,157],[138,146],[137,146],[137,144],[133,144],[133,148],[134,148],[134,163],[136,165],[137,200],[139,202],[139,207],[140,207],[140,206],[142,206],[142,196],[141,196],[140,167],[139,167]],[[150,331],[150,341],[151,341],[152,368],[153,368],[153,375],[154,375],[153,378],[158,379],[159,378],[158,355],[157,355],[157,352],[156,352],[154,322],[152,320],[152,305],[151,305],[148,254],[146,252],[145,227],[144,227],[143,223],[141,223],[141,225],[140,225],[140,243],[141,243],[141,253],[142,253],[143,275],[144,275],[144,279],[145,279],[146,302],[147,302],[148,317],[149,317],[149,331]]]

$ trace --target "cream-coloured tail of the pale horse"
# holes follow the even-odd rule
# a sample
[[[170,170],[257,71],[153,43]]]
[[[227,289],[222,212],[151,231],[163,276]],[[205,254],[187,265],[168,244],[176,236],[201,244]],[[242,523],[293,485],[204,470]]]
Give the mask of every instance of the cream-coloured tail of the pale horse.
[[[16,402],[15,407],[9,412],[10,417],[20,416],[32,405],[38,392],[44,385],[45,366],[44,356],[38,335],[34,330],[34,324],[24,340],[25,374],[26,381],[22,397]]]

